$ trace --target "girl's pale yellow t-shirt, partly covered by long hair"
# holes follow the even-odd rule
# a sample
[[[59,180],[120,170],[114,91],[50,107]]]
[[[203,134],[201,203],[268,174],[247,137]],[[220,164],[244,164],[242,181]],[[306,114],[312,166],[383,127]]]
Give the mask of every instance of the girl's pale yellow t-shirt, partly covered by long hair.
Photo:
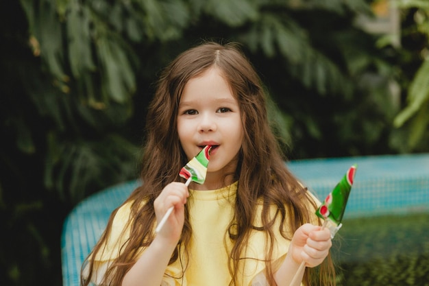
[[[182,278],[172,278],[182,276],[182,265],[180,261],[169,265],[164,275],[162,285],[205,285],[219,286],[230,283],[230,272],[228,270],[228,253],[232,248],[230,239],[225,239],[227,228],[230,225],[234,212],[234,202],[236,197],[237,182],[228,187],[212,191],[190,190],[188,198],[188,209],[190,221],[193,228],[193,237],[188,246],[188,267]],[[106,244],[103,253],[97,255],[95,266],[101,270],[106,267],[106,263],[118,256],[119,248],[130,235],[130,230],[125,230],[127,219],[130,215],[131,202],[124,204],[114,217],[110,239]],[[261,226],[260,212],[262,205],[256,208],[255,226]],[[276,209],[273,207],[272,214]],[[285,222],[286,226],[288,222]],[[278,229],[278,223],[273,226]],[[292,237],[293,233],[288,234]],[[273,261],[278,265],[285,257],[289,249],[290,241],[284,239],[278,233],[275,236],[276,243],[273,250]],[[265,233],[253,230],[249,237],[249,242],[241,262],[238,272],[238,285],[252,285],[254,278],[265,268]],[[144,250],[142,250],[143,252]],[[280,265],[279,265],[280,266]],[[101,271],[103,272],[103,271]],[[98,278],[94,282],[101,280],[103,275],[96,271]],[[260,275],[258,276],[258,280]]]

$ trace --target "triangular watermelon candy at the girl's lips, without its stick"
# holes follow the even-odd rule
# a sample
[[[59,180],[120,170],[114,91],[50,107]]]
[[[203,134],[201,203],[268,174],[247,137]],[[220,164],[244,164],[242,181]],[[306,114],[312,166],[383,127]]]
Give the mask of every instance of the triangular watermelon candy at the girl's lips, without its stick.
[[[212,146],[207,145],[201,150],[197,156],[192,158],[182,169],[179,176],[188,180],[191,178],[193,182],[203,184],[206,180],[208,160],[210,160],[210,149]]]

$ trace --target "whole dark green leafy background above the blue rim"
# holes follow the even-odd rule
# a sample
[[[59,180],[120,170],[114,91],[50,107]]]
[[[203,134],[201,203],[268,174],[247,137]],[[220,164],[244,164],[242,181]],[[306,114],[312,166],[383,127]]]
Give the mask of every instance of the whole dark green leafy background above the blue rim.
[[[428,37],[426,0],[1,1],[0,285],[62,285],[64,218],[138,177],[188,47],[243,45],[297,160],[429,152]]]

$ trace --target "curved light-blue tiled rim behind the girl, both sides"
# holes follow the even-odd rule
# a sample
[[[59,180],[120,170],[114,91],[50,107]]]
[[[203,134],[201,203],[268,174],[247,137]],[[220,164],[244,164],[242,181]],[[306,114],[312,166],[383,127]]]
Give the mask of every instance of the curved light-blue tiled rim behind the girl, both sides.
[[[429,154],[297,160],[287,165],[323,200],[355,163],[358,170],[344,219],[429,211]],[[137,186],[134,180],[102,190],[77,204],[66,217],[62,232],[64,286],[79,285],[82,262],[103,233],[110,213]]]

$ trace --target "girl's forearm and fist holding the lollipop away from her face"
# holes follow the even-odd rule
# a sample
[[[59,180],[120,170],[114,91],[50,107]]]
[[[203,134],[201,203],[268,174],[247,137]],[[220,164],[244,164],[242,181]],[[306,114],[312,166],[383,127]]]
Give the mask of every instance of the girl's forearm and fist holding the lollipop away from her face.
[[[299,278],[295,285],[291,285],[295,273],[302,261],[306,267],[315,267],[325,260],[332,246],[328,228],[321,230],[320,226],[304,224],[295,231],[288,254],[282,265],[274,274],[275,282],[279,286],[299,286],[304,276],[305,267],[297,274]]]

